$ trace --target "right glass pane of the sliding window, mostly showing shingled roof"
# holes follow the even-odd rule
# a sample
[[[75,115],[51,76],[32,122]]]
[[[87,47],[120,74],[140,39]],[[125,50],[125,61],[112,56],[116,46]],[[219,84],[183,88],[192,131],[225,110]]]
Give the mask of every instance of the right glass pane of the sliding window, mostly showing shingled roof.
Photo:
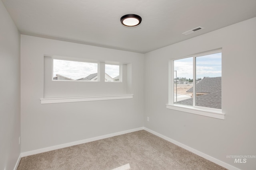
[[[196,57],[196,106],[221,109],[221,55]]]

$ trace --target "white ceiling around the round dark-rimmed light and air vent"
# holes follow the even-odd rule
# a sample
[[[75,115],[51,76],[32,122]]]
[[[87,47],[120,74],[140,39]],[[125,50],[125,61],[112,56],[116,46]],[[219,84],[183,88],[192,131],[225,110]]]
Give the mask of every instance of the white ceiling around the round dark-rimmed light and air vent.
[[[147,53],[256,17],[256,0],[2,0],[20,33]],[[142,23],[125,27],[120,18]],[[190,35],[182,33],[202,26]]]

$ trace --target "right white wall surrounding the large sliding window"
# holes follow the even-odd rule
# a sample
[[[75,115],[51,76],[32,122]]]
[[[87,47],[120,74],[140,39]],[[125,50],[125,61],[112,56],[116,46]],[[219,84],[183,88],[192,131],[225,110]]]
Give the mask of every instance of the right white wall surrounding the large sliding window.
[[[234,159],[226,158],[227,155],[256,154],[255,30],[256,18],[252,18],[147,53],[144,126],[232,166],[255,169],[255,158],[247,159],[246,163],[234,163]],[[169,59],[221,47],[222,110],[226,119],[166,109]],[[146,117],[150,117],[150,121]]]

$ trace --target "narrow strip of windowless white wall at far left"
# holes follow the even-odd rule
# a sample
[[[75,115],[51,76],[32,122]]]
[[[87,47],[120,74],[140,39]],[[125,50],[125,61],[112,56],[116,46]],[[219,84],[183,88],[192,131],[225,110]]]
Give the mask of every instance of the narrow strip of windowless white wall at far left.
[[[20,156],[20,33],[0,1],[0,169]]]

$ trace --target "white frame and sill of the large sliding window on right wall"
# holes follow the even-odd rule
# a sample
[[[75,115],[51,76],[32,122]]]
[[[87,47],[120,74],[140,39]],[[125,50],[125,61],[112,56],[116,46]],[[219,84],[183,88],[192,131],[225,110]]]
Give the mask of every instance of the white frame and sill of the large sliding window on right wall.
[[[210,55],[214,53],[222,53],[222,49],[216,49],[212,51],[206,51],[203,53],[198,53],[195,55],[191,55],[188,57],[183,57],[179,59],[193,57],[193,87],[196,87],[196,57]],[[203,115],[208,117],[214,117],[217,119],[225,119],[225,114],[222,112],[222,109],[215,109],[210,107],[202,107],[202,106],[195,106],[196,98],[193,98],[193,106],[185,106],[180,104],[174,104],[174,61],[178,59],[172,59],[169,61],[169,92],[168,92],[168,104],[166,104],[167,109],[173,109],[178,111],[183,111],[187,113]],[[193,90],[193,96],[196,96],[196,90]]]

